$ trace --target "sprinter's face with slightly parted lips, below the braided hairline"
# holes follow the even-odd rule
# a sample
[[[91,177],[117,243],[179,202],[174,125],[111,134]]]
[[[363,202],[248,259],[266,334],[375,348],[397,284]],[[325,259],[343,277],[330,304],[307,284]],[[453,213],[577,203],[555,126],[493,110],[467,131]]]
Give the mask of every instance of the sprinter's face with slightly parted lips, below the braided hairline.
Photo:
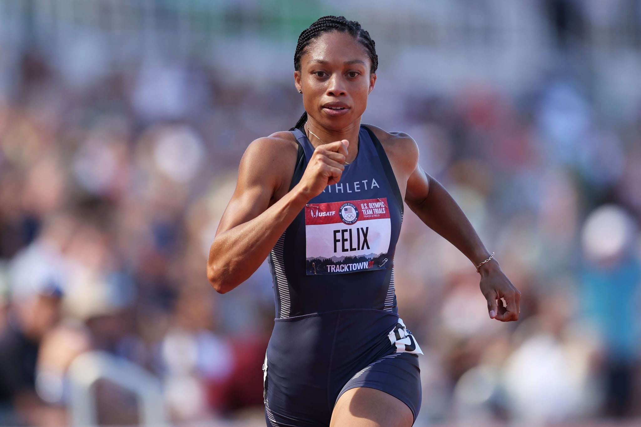
[[[347,33],[332,31],[313,40],[294,72],[307,114],[326,129],[339,131],[358,120],[367,107],[376,74],[365,47]]]

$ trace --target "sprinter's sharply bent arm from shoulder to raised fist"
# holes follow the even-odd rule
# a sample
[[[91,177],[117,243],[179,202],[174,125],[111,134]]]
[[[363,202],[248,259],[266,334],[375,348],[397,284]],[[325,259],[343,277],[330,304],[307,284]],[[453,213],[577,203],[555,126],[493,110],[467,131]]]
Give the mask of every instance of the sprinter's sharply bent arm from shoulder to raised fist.
[[[296,149],[276,138],[260,138],[249,145],[209,251],[207,278],[217,292],[229,292],[247,280],[305,204],[340,180],[346,145],[337,141],[316,149],[301,181],[271,206],[282,177],[293,172]],[[293,158],[283,156],[284,149],[288,154],[293,150]]]

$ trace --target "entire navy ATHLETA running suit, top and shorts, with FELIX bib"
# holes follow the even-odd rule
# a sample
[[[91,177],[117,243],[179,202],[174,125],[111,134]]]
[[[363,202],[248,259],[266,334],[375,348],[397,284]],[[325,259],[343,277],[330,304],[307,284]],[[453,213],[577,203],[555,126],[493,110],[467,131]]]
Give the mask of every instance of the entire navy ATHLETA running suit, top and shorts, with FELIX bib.
[[[292,131],[299,156],[314,148]],[[394,251],[403,200],[378,138],[362,126],[338,184],[312,198],[274,246],[276,321],[263,365],[268,426],[328,426],[340,395],[370,387],[420,408],[418,344],[399,319]]]

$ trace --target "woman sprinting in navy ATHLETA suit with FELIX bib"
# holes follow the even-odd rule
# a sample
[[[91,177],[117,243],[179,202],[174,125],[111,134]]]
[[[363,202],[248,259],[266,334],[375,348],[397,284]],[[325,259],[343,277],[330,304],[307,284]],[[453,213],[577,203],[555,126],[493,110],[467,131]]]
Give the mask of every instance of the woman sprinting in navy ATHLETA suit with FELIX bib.
[[[269,255],[276,322],[263,365],[268,426],[415,421],[420,347],[394,294],[403,200],[477,267],[490,318],[519,318],[519,291],[420,168],[415,141],[361,125],[377,66],[374,40],[358,22],[326,16],[301,33],[294,84],[306,113],[290,131],[249,145],[212,243],[207,273],[219,293]]]

